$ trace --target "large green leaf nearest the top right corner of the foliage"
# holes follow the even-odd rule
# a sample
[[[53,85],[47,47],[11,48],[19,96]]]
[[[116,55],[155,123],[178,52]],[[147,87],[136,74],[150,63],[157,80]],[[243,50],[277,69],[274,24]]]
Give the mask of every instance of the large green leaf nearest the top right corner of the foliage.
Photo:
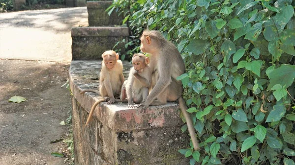
[[[285,25],[290,21],[294,14],[294,9],[292,5],[287,5],[281,8],[280,13],[276,13],[274,16],[274,20],[278,22],[279,25],[281,25],[281,28],[283,29]]]

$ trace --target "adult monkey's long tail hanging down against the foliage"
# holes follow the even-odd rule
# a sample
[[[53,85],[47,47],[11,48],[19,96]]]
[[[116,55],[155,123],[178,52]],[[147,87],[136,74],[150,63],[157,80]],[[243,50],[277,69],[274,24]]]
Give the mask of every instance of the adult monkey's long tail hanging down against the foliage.
[[[188,112],[186,111],[187,106],[186,106],[185,101],[182,98],[182,96],[180,96],[178,98],[178,103],[179,103],[179,107],[181,109],[181,112],[182,112],[182,114],[183,114],[183,116],[184,116],[184,118],[186,120],[188,132],[189,132],[190,137],[192,139],[194,149],[195,150],[200,150],[200,146],[199,146],[199,142],[197,140],[197,136],[196,136],[196,133],[195,133],[195,128],[193,126],[193,122],[192,122],[192,119],[190,118]]]

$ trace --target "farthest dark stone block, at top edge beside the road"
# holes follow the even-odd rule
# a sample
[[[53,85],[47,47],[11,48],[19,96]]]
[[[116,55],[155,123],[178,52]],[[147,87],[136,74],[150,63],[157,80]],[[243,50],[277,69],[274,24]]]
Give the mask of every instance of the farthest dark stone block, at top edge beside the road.
[[[88,23],[89,26],[114,26],[121,24],[123,15],[113,11],[109,16],[105,11],[111,4],[109,1],[87,1]]]

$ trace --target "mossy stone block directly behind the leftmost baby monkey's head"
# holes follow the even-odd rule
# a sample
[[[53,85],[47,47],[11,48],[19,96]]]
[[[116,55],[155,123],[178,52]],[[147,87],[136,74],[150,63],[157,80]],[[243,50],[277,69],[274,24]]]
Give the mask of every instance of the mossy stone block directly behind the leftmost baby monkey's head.
[[[106,50],[112,50],[118,41],[128,40],[128,27],[74,27],[72,28],[72,60],[99,60]],[[124,43],[116,46],[125,54]]]

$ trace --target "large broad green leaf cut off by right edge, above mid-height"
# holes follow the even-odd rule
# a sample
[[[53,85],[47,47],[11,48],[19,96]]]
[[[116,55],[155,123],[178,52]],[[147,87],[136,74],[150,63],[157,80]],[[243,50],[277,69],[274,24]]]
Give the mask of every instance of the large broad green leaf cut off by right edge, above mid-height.
[[[267,87],[268,90],[276,84],[281,84],[282,87],[285,86],[285,89],[287,89],[294,82],[295,66],[283,64],[280,68],[271,71],[268,77],[270,82]]]

